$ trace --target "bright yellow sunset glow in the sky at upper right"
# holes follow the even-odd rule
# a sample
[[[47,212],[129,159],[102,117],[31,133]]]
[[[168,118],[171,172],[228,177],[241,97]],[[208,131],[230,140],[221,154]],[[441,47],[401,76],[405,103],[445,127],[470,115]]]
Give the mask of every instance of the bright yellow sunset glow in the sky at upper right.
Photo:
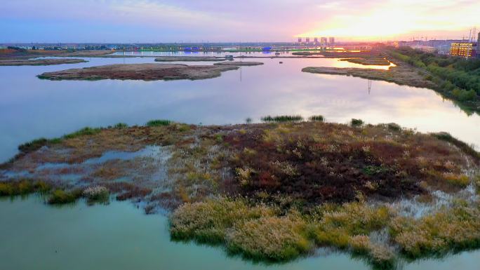
[[[429,1],[429,8],[418,1],[387,1],[370,13],[345,11],[332,15],[309,32],[307,36],[348,36],[352,39],[381,39],[406,36],[411,33],[432,34],[437,29],[458,32],[478,23],[474,11],[455,12],[458,6],[443,1]],[[480,2],[479,2],[480,3]],[[432,4],[434,7],[432,8]],[[480,8],[480,4],[476,4]]]

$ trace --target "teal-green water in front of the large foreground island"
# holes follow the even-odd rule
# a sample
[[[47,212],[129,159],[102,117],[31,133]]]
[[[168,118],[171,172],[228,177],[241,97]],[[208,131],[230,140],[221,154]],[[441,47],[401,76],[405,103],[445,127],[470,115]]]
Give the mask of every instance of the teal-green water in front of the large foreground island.
[[[146,216],[129,202],[62,208],[29,196],[0,200],[2,270],[367,270],[368,264],[334,252],[287,264],[253,264],[221,248],[170,241],[167,219]],[[401,263],[404,270],[478,270],[480,251]]]

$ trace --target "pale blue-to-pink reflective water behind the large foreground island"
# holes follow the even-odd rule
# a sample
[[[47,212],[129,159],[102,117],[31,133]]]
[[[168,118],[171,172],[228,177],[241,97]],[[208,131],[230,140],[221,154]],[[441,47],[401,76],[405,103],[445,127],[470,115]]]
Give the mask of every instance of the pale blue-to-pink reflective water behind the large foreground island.
[[[141,54],[141,53],[132,53]],[[143,53],[148,54],[148,53]],[[152,53],[173,55],[172,53]],[[225,54],[225,53],[223,53]],[[220,55],[223,55],[220,54]],[[229,53],[249,55],[248,53]],[[175,53],[218,55],[218,53]],[[250,55],[267,55],[251,53]],[[254,59],[265,62],[201,81],[47,81],[42,72],[115,63],[154,62],[154,58],[85,58],[90,62],[40,67],[0,67],[0,162],[18,144],[57,137],[84,126],[143,124],[151,119],[185,123],[244,123],[268,114],[322,114],[346,123],[396,122],[420,131],[447,131],[480,145],[480,116],[468,116],[433,90],[365,79],[308,74],[307,66],[363,67],[336,59]],[[279,64],[279,62],[283,64]],[[212,62],[187,62],[213,65]]]

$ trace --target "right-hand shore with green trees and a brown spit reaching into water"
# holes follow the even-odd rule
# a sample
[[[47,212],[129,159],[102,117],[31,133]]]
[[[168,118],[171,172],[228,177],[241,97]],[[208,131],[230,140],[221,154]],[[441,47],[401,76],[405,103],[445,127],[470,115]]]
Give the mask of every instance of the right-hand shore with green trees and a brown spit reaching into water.
[[[302,71],[358,76],[364,79],[430,88],[455,101],[467,113],[480,112],[480,60],[434,55],[412,48],[385,48],[383,53],[395,62],[396,67],[390,67],[388,70],[306,67]],[[324,56],[331,57],[331,55]],[[375,58],[367,57],[366,59]],[[348,61],[356,60],[350,58]]]

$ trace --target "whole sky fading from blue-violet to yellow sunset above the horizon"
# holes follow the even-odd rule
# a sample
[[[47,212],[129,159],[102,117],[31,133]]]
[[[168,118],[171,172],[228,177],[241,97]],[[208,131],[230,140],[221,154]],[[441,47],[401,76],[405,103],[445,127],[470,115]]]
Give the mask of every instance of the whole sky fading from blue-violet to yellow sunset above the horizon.
[[[0,42],[461,39],[480,0],[1,0]]]

